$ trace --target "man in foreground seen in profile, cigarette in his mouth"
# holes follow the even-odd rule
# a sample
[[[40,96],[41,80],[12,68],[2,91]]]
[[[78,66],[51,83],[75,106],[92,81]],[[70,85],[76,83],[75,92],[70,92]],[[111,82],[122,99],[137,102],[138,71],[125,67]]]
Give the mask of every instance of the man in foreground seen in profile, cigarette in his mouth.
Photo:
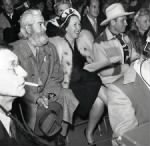
[[[26,71],[19,66],[18,57],[8,49],[0,48],[0,144],[16,146],[17,141],[10,131],[11,119],[2,110],[11,111],[12,103],[25,94]],[[1,108],[2,107],[2,108]]]

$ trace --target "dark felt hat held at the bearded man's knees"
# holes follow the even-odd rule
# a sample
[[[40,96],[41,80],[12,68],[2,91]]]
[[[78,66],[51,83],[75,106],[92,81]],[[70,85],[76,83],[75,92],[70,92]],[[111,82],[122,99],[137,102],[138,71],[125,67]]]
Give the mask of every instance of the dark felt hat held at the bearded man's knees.
[[[35,124],[35,134],[42,137],[52,137],[61,130],[62,106],[50,102],[48,108],[38,107]]]

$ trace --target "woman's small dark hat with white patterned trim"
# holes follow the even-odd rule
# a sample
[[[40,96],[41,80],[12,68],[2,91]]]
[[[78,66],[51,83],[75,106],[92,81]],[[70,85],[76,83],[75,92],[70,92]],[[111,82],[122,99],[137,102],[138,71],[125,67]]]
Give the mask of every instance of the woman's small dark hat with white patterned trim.
[[[81,20],[80,13],[77,10],[75,10],[73,8],[68,8],[68,9],[66,9],[66,10],[63,11],[63,13],[61,14],[61,16],[59,18],[59,25],[60,25],[60,27],[63,27],[64,24],[67,22],[67,20],[72,15],[77,16]]]

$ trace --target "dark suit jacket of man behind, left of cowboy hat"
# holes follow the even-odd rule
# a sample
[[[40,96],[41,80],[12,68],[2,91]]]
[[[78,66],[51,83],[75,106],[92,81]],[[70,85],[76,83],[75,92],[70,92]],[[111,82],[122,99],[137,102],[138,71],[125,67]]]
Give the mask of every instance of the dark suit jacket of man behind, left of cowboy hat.
[[[82,29],[89,30],[94,38],[96,39],[98,35],[103,31],[104,27],[100,26],[100,20],[97,19],[97,32],[95,32],[90,20],[88,19],[87,15],[83,16],[81,19],[81,27]]]

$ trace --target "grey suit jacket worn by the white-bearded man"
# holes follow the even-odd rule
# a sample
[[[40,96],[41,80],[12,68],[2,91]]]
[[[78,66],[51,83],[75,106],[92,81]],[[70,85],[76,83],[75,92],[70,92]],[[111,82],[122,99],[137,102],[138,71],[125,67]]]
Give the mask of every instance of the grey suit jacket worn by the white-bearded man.
[[[39,54],[39,62],[27,43],[27,40],[19,40],[12,43],[14,53],[18,56],[21,66],[27,71],[26,81],[41,84],[41,87],[26,86],[24,96],[25,115],[29,126],[34,129],[36,122],[37,104],[36,101],[41,96],[48,96],[48,93],[55,93],[58,96],[61,90],[63,72],[60,67],[59,58],[55,47],[52,44],[43,46]]]

